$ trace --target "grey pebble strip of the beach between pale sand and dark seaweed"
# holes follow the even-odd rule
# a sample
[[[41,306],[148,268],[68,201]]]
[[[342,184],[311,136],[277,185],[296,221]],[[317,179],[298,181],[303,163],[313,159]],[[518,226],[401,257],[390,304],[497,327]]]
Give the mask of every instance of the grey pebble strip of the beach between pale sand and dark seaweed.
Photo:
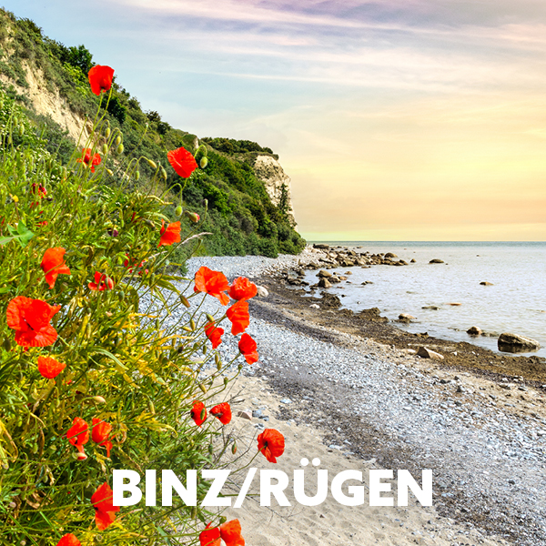
[[[192,258],[188,276],[207,265],[230,280],[243,275],[263,282],[301,258]],[[453,370],[339,331],[334,311],[324,326],[324,318],[295,310],[276,288],[270,279],[268,298],[251,302],[248,333],[258,342],[260,360],[245,365],[244,373],[290,400],[278,419],[319,427],[339,457],[414,475],[432,469],[434,507],[466,525],[475,541],[495,535],[518,545],[546,543],[544,390],[519,378]],[[215,298],[206,298],[202,309],[223,312]],[[236,340],[224,340],[220,353],[234,358]],[[422,531],[417,543],[433,544],[434,536]],[[474,543],[467,539],[454,534],[451,543]]]

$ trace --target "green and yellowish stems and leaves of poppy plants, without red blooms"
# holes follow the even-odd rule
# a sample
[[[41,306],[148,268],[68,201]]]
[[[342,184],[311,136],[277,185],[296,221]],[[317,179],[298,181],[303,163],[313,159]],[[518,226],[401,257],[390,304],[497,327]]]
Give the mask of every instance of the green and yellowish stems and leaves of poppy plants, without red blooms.
[[[218,442],[224,453],[229,441],[221,440],[216,420],[197,428],[190,419],[194,399],[226,388],[227,366],[207,348],[204,318],[180,311],[197,308],[197,294],[184,298],[177,287],[187,285],[167,273],[174,247],[157,247],[162,220],[170,221],[167,203],[152,191],[129,192],[111,182],[106,165],[118,133],[106,137],[100,119],[96,129],[85,143],[93,151],[106,144],[95,172],[79,155],[63,165],[24,108],[0,92],[3,546],[54,545],[67,532],[84,544],[173,545],[195,541],[204,522],[217,521],[202,507],[174,499],[171,511],[122,509],[106,531],[96,531],[90,499],[112,470],[168,468],[183,477],[187,469],[215,468]],[[135,180],[137,159],[116,157],[116,163],[119,179]],[[157,167],[150,184],[159,187],[161,175]],[[183,239],[192,235],[185,231]],[[53,288],[40,267],[48,248],[65,248],[70,268]],[[93,289],[96,271],[111,279],[107,289]],[[52,319],[54,343],[16,344],[5,317],[17,297],[60,306]],[[175,323],[173,316],[181,319]],[[56,379],[45,379],[36,367],[45,356],[66,364]],[[203,379],[200,372],[211,362],[215,371]],[[89,427],[94,418],[112,425],[109,456],[89,440],[86,460],[78,459],[66,437],[75,418]],[[199,500],[207,487],[199,483]]]

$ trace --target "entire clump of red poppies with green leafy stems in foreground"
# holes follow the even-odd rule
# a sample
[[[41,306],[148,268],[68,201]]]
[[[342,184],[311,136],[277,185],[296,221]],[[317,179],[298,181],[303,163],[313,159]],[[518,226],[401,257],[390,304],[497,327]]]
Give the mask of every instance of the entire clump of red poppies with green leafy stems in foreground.
[[[113,75],[94,66],[91,90],[102,97]],[[176,246],[199,237],[199,218],[165,216],[167,202],[155,189],[165,167],[155,166],[148,193],[106,184],[104,159],[123,145],[103,118],[62,166],[43,147],[15,141],[14,127],[25,125],[5,96],[0,114],[2,543],[180,544],[198,537],[201,545],[242,546],[237,520],[218,520],[202,507],[175,501],[170,511],[122,511],[109,481],[116,469],[214,468],[217,442],[226,442],[221,453],[227,448],[221,429],[232,419],[230,403],[217,403],[233,364],[215,350],[225,335],[220,325],[227,321],[240,335],[239,358],[258,361],[245,331],[256,286],[246,278],[230,285],[221,272],[200,268],[191,291],[188,279],[170,272]],[[140,160],[128,161],[127,178],[136,177]],[[167,161],[181,177],[198,168],[184,148]],[[218,298],[226,313],[201,319],[191,312],[198,307],[192,298],[202,294]],[[212,374],[201,373],[212,364]],[[275,462],[283,450],[278,431],[259,435],[257,455]],[[207,488],[198,484],[200,499]]]

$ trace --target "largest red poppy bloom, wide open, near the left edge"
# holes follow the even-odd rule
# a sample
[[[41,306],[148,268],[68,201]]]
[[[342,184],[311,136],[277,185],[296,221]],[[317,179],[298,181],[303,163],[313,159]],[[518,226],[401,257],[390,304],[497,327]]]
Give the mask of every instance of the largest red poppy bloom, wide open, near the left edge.
[[[7,304],[7,326],[15,329],[15,343],[22,347],[45,347],[57,339],[56,329],[49,321],[61,308],[41,299],[17,296]]]

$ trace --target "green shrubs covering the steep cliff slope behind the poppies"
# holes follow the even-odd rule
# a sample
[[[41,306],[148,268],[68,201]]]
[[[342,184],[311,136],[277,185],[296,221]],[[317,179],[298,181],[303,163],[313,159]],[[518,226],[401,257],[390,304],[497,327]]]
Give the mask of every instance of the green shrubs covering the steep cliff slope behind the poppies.
[[[35,113],[26,91],[32,76],[45,86],[46,92],[64,101],[71,113],[90,118],[99,102],[88,88],[86,74],[91,66],[93,56],[84,45],[67,47],[43,35],[33,21],[0,9],[0,77],[4,82],[1,85],[9,96],[25,106],[35,130],[45,139],[45,147],[65,164],[74,153],[74,140],[49,116]],[[279,252],[295,254],[303,248],[305,241],[294,230],[286,207],[271,202],[252,167],[257,154],[277,158],[270,148],[229,138],[199,141],[197,136],[170,126],[157,112],[145,112],[136,97],[116,81],[113,89],[105,114],[112,129],[122,131],[125,151],[123,157],[106,161],[106,167],[114,173],[112,184],[121,183],[121,175],[117,173],[122,171],[116,167],[126,157],[147,157],[163,165],[175,218],[180,178],[167,164],[167,150],[186,147],[197,153],[198,161],[206,148],[207,166],[197,169],[187,180],[182,196],[185,207],[200,215],[199,230],[212,233],[205,238],[202,251],[213,255],[275,257]],[[106,106],[105,99],[102,105]],[[135,186],[147,188],[152,167],[141,161],[138,169]]]

